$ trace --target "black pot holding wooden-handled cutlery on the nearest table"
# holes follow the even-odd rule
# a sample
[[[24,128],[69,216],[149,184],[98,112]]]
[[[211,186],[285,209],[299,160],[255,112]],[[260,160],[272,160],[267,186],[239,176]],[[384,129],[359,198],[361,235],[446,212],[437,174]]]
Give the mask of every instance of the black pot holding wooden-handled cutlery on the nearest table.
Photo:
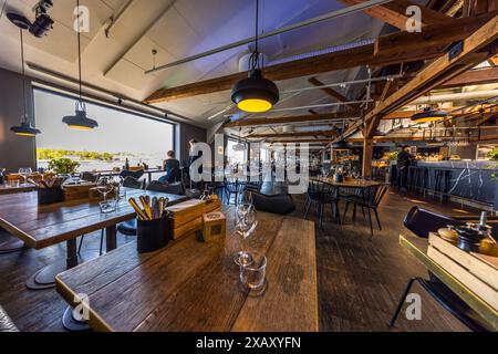
[[[154,252],[168,244],[170,239],[169,218],[136,221],[138,253]]]

